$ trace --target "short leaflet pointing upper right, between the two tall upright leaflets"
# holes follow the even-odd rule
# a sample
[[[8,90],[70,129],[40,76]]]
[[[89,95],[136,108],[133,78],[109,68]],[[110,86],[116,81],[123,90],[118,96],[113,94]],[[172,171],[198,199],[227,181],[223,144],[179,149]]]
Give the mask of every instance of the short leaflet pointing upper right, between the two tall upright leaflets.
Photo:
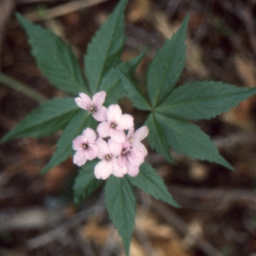
[[[104,102],[105,106],[117,103],[118,100],[123,98],[126,94],[123,87],[122,79],[119,75],[119,68],[128,75],[133,76],[137,69],[137,66],[143,60],[144,55],[145,52],[141,53],[131,61],[121,61],[116,67],[111,68],[104,76],[99,86],[99,91],[105,90],[107,92],[107,97]]]

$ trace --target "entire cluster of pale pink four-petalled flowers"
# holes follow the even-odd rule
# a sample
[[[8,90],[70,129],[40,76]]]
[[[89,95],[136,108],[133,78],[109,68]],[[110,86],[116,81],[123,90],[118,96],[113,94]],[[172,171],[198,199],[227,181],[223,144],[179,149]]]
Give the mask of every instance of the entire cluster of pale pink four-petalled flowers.
[[[141,141],[148,135],[148,126],[144,125],[134,131],[133,117],[123,114],[117,104],[108,108],[102,106],[106,92],[97,92],[92,99],[84,93],[79,93],[75,102],[79,108],[89,111],[93,118],[100,122],[96,131],[86,128],[82,135],[73,140],[73,163],[83,166],[87,160],[96,157],[101,161],[96,164],[96,178],[106,179],[111,174],[124,177],[128,174],[137,176],[139,166],[143,163],[147,149]],[[128,131],[127,134],[125,131]],[[108,138],[106,141],[104,138]]]

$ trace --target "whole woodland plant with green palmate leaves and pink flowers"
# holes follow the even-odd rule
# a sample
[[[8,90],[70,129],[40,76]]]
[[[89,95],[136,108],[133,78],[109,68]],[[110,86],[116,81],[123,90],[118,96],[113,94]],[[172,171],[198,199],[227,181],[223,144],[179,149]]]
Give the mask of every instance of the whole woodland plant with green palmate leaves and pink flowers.
[[[190,159],[216,162],[233,170],[209,137],[191,121],[211,119],[228,111],[253,96],[256,89],[213,81],[176,86],[184,67],[187,15],[172,38],[156,52],[148,67],[143,93],[133,76],[145,53],[131,61],[120,60],[125,47],[126,3],[127,0],[119,1],[92,38],[84,56],[84,72],[71,47],[61,38],[16,14],[41,72],[70,96],[43,102],[9,131],[2,143],[16,137],[45,137],[63,131],[55,154],[42,173],[73,155],[74,164],[80,166],[73,186],[77,204],[106,180],[109,218],[128,255],[136,216],[134,187],[178,207],[163,179],[148,164],[143,139],[172,164],[170,148]],[[137,121],[122,113],[118,105],[125,96],[134,108],[148,112],[136,131]]]

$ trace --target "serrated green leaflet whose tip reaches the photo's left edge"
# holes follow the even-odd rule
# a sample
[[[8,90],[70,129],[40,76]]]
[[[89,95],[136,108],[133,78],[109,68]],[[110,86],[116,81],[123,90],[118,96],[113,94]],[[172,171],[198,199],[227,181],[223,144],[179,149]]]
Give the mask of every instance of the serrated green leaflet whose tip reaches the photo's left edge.
[[[55,98],[43,102],[39,108],[32,110],[1,142],[15,137],[44,137],[54,134],[67,125],[73,115],[79,111],[72,97]]]

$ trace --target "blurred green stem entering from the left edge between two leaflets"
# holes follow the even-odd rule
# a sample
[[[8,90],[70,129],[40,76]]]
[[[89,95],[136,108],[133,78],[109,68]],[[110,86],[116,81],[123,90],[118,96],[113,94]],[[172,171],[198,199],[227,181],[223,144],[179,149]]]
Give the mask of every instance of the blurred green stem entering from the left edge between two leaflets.
[[[13,79],[3,73],[0,73],[0,83],[3,83],[9,88],[20,91],[21,93],[25,94],[26,96],[31,97],[33,100],[42,103],[46,102],[48,99],[32,88],[29,88],[26,84],[20,83],[16,79]]]

